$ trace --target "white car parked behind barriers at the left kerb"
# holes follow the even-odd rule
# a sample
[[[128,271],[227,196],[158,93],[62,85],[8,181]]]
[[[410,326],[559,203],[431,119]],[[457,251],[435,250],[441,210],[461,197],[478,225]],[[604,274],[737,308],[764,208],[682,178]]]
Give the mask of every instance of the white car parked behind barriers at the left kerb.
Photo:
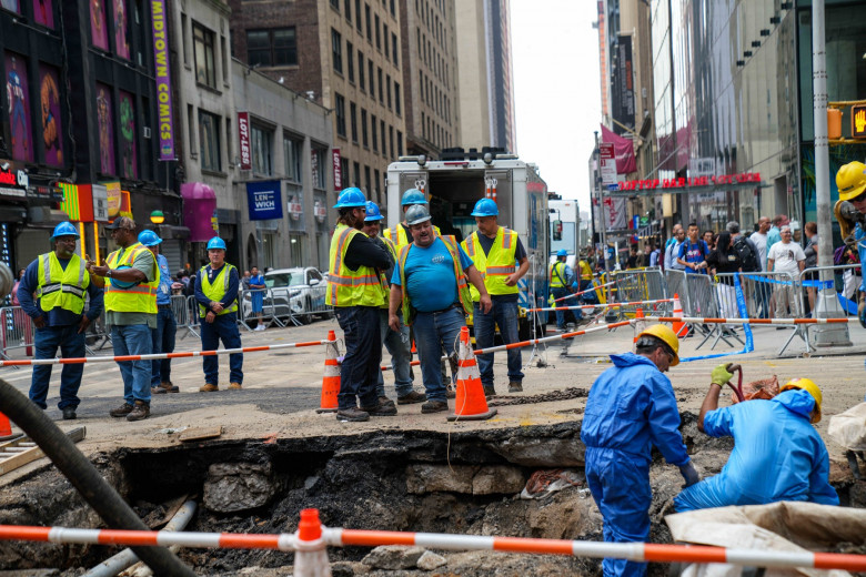
[[[333,313],[325,307],[328,282],[314,266],[276,269],[264,274],[269,292],[264,296],[264,316],[279,318],[294,315],[303,323],[310,323],[313,315],[330,318]],[[252,315],[249,294],[243,298],[244,317]]]

